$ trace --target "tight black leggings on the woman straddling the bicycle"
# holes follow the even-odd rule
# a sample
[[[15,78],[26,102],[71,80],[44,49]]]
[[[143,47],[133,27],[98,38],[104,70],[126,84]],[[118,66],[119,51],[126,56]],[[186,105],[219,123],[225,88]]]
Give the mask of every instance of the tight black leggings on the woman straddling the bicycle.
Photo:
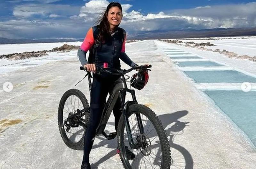
[[[92,149],[92,144],[95,138],[96,129],[100,123],[100,117],[106,102],[106,98],[113,87],[114,82],[118,79],[116,76],[100,77],[93,74],[92,90],[91,90],[91,116],[88,127],[84,136],[84,157],[83,163],[89,163],[89,154]],[[116,100],[113,108],[115,116],[115,129],[117,131],[118,121],[121,117],[121,103],[120,99]]]

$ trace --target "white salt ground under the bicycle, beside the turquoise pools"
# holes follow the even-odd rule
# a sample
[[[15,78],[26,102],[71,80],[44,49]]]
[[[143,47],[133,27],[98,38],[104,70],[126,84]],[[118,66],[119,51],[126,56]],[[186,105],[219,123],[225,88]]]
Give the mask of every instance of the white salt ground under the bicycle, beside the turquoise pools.
[[[172,147],[171,168],[255,168],[256,151],[247,136],[184,76],[163,47],[197,52],[156,40],[127,44],[126,52],[137,64],[152,64],[149,83],[143,90],[136,90],[136,96],[139,103],[156,112],[165,127]],[[205,51],[198,52],[208,59],[244,68],[237,61],[228,62],[226,56],[215,54],[211,58],[213,55]],[[1,85],[6,81],[14,85],[12,92],[0,90],[0,119],[17,121],[0,131],[0,168],[80,167],[83,151],[69,149],[63,143],[57,124],[58,104],[65,91],[77,88],[89,99],[87,80],[74,87],[84,72],[79,70],[75,52],[72,54],[63,60],[0,74]],[[253,70],[250,73],[255,73]],[[108,131],[114,130],[113,122],[111,116]],[[97,137],[90,161],[92,168],[122,168],[116,155],[116,139]]]

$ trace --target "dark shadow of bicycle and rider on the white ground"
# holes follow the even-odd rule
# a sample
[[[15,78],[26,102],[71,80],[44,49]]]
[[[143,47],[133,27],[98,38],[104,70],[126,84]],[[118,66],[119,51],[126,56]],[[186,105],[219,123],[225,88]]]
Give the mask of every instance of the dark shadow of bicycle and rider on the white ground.
[[[178,135],[183,134],[183,129],[186,126],[188,126],[187,124],[189,122],[182,122],[182,121],[178,120],[187,114],[188,114],[188,111],[183,110],[183,111],[177,111],[174,113],[161,114],[161,115],[157,116],[161,120],[167,136],[170,137],[169,144],[171,147],[171,156],[172,156],[171,168],[193,169],[194,162],[193,162],[193,158],[192,158],[191,154],[189,153],[189,151],[187,149],[185,149],[184,147],[182,147],[178,144],[175,144],[173,142],[174,138]],[[174,123],[174,124],[171,127],[166,129],[166,127],[172,123]],[[108,124],[114,125],[113,122],[109,122]],[[97,145],[93,145],[93,149],[101,147],[101,146],[105,146],[105,145],[107,145],[108,148],[116,148],[117,147],[116,139],[107,140],[102,137],[98,137],[98,138],[101,139],[101,141]],[[97,161],[96,163],[93,163],[92,168],[97,169],[101,163],[105,162],[106,160],[108,160],[109,158],[111,158],[115,155],[116,155],[116,149],[110,151],[107,155],[100,158],[99,161]],[[183,157],[181,158],[180,156],[183,156]]]

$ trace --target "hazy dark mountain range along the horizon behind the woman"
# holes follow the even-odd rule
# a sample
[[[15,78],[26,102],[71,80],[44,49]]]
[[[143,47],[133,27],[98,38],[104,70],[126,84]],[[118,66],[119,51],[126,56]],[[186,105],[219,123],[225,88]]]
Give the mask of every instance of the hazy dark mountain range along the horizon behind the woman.
[[[256,28],[214,28],[214,29],[185,29],[172,31],[143,31],[129,34],[127,40],[139,39],[174,39],[174,38],[207,38],[225,36],[256,36]],[[7,39],[0,38],[0,44],[17,43],[51,43],[51,42],[76,42],[84,39]]]

